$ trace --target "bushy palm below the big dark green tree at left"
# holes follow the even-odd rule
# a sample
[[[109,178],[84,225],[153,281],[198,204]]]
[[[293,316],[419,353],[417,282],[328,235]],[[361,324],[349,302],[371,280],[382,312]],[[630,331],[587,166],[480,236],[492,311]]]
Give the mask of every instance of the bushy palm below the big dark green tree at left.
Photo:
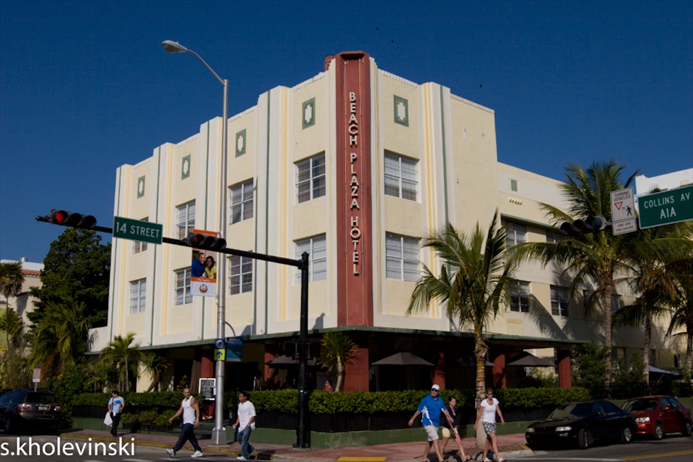
[[[44,374],[60,373],[74,367],[89,345],[91,321],[87,305],[66,297],[62,303],[49,301],[44,316],[34,326],[32,363],[44,369]]]

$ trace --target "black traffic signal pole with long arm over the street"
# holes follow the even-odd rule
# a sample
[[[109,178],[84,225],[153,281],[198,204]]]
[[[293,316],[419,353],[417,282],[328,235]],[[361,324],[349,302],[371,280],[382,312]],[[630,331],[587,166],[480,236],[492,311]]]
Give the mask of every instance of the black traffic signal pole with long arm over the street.
[[[50,223],[49,218],[37,216],[37,222]],[[70,226],[68,226],[70,227]],[[99,231],[101,233],[113,234],[113,228],[107,228],[106,226],[91,226],[88,228],[91,231]],[[173,239],[173,238],[161,238],[161,242],[166,242],[166,244],[180,245],[182,247],[191,247],[186,241]],[[306,420],[308,418],[308,252],[304,252],[301,255],[300,260],[292,260],[291,258],[276,257],[267,254],[257,254],[256,252],[249,252],[245,250],[238,249],[220,249],[216,250],[220,254],[227,255],[238,255],[247,258],[253,258],[255,260],[263,260],[272,263],[279,263],[280,265],[295,266],[301,269],[301,324],[299,331],[299,341],[301,348],[299,349],[299,412],[298,412],[298,427],[296,428],[296,444],[294,447],[297,448],[308,448],[310,443],[306,441],[306,434],[308,433],[308,427],[306,425]]]

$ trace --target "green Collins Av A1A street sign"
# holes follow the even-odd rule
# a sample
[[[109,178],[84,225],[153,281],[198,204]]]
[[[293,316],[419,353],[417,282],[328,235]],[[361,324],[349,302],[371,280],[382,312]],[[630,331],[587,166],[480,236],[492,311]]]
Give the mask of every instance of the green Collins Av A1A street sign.
[[[638,196],[640,228],[693,220],[693,185]]]

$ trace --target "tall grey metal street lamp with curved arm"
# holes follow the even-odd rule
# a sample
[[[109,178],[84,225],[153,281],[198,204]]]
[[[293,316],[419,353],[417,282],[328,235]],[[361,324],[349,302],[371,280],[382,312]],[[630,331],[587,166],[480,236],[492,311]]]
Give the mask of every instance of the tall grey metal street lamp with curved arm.
[[[202,64],[207,66],[207,69],[213,73],[216,80],[224,87],[224,105],[222,109],[222,141],[221,141],[221,188],[220,188],[220,211],[219,211],[219,237],[225,239],[226,235],[226,169],[227,169],[227,154],[229,150],[227,132],[229,130],[229,80],[219,77],[214,72],[214,69],[209,67],[207,62],[204,62],[202,57],[194,51],[182,46],[178,42],[164,40],[161,46],[168,53],[193,53],[202,61]],[[218,262],[218,293],[217,293],[217,338],[224,339],[226,337],[225,322],[226,322],[226,257],[222,256]],[[226,431],[224,429],[224,366],[223,361],[216,361],[216,395],[215,395],[215,416],[214,429],[212,430],[212,444],[225,445],[227,443]]]

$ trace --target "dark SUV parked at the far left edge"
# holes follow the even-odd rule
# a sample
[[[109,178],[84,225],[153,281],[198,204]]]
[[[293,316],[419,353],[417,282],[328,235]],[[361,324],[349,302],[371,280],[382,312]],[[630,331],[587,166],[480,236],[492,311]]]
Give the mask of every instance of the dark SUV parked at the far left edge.
[[[12,433],[21,428],[55,432],[62,414],[50,391],[18,389],[0,396],[0,428]]]

